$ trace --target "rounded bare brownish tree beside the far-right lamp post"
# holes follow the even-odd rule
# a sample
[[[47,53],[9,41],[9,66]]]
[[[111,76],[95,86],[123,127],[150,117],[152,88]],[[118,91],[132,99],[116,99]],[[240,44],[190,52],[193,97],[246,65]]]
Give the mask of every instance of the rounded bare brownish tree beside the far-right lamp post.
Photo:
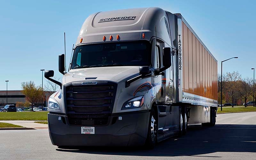
[[[252,82],[253,82],[253,80],[248,77],[244,78],[238,82],[239,87],[238,87],[237,91],[240,94],[240,97],[244,100],[244,104],[246,104],[248,97],[252,93]],[[246,105],[245,105],[245,107],[246,107]]]

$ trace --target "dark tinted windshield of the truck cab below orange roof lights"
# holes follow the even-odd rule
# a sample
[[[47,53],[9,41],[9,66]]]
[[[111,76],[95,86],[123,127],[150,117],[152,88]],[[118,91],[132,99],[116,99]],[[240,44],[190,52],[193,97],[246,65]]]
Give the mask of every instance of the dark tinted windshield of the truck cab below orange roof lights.
[[[75,50],[71,69],[108,66],[149,66],[149,42],[87,44]]]

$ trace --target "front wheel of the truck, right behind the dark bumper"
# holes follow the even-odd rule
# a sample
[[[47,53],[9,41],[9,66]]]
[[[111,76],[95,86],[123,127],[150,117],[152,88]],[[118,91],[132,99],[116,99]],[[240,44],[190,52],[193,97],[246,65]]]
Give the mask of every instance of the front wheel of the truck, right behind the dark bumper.
[[[157,115],[155,110],[152,108],[149,116],[148,123],[148,135],[145,143],[145,147],[148,149],[153,149],[157,142],[157,131],[158,131],[158,122]]]

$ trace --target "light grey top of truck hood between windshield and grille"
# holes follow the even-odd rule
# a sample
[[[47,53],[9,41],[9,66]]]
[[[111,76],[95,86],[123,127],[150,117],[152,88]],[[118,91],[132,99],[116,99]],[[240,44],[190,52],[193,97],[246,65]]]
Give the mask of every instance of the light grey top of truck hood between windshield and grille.
[[[119,82],[129,76],[139,74],[139,66],[115,66],[72,69],[63,76],[63,83],[77,81],[113,81]]]

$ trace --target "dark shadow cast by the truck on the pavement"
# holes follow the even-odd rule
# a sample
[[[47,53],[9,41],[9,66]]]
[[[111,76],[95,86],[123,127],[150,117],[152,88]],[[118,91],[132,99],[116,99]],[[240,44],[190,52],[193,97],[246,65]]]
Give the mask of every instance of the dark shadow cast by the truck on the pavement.
[[[185,136],[164,140],[151,150],[143,147],[83,147],[56,150],[127,156],[193,156],[214,152],[256,152],[256,125],[189,125]]]

